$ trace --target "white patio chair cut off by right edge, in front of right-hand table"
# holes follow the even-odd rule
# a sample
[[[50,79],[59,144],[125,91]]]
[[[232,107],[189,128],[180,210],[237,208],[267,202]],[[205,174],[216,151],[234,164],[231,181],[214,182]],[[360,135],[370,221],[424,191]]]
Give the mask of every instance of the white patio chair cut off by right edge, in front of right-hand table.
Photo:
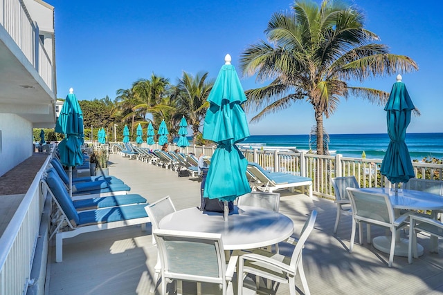
[[[409,216],[409,245],[408,245],[408,263],[413,263],[414,258],[418,258],[417,250],[417,232],[424,231],[431,236],[443,238],[443,223],[411,214]]]

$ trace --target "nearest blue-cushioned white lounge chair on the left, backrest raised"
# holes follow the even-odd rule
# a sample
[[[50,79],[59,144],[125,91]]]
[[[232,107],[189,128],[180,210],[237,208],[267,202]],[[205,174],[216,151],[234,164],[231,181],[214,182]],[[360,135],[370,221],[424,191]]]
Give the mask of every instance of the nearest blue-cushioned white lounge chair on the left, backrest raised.
[[[142,225],[145,230],[150,218],[145,211],[145,204],[109,207],[78,212],[64,185],[57,179],[54,171],[48,171],[42,189],[51,194],[57,210],[51,214],[52,227],[50,239],[55,235],[55,261],[63,260],[63,239],[73,238],[79,234],[114,229],[129,225]]]

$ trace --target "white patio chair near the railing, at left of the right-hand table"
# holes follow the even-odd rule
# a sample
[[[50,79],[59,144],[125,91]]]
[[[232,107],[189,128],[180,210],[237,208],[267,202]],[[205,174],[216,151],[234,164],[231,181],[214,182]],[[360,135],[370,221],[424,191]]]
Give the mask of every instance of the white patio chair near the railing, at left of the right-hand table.
[[[340,216],[342,213],[346,215],[352,215],[351,202],[347,198],[346,188],[354,187],[358,189],[359,182],[355,179],[355,176],[345,176],[332,178],[332,187],[334,187],[335,200],[337,204],[337,216],[335,218],[334,234],[337,233],[338,222],[340,222]]]

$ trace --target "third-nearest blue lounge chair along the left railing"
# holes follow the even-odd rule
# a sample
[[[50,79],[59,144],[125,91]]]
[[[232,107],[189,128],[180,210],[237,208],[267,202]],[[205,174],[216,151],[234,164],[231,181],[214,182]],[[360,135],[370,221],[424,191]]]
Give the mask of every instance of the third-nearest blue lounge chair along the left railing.
[[[66,183],[53,168],[46,169],[46,173],[55,171],[62,184],[69,189],[69,182]],[[81,182],[72,185],[73,200],[82,200],[98,197],[126,195],[131,188],[126,184],[108,184],[107,182]]]

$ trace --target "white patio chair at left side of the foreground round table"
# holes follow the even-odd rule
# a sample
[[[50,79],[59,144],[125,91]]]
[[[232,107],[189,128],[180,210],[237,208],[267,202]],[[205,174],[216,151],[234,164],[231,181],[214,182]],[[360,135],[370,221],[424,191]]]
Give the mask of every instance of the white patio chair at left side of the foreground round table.
[[[174,213],[175,207],[172,203],[172,200],[170,196],[165,196],[164,198],[161,198],[160,200],[157,200],[156,202],[153,202],[152,204],[149,204],[145,207],[147,216],[150,216],[151,225],[152,225],[152,233],[154,233],[154,230],[159,229],[159,223],[160,220],[162,220],[163,217],[167,216],[170,213]],[[152,234],[152,245],[157,245],[156,239],[154,238],[154,234]],[[158,249],[157,249],[158,250]],[[156,285],[159,282],[160,276],[161,276],[161,260],[160,260],[160,254],[157,252],[157,263],[154,266],[155,275],[154,275],[154,284],[151,287],[151,293],[154,293],[154,290],[156,289]]]

